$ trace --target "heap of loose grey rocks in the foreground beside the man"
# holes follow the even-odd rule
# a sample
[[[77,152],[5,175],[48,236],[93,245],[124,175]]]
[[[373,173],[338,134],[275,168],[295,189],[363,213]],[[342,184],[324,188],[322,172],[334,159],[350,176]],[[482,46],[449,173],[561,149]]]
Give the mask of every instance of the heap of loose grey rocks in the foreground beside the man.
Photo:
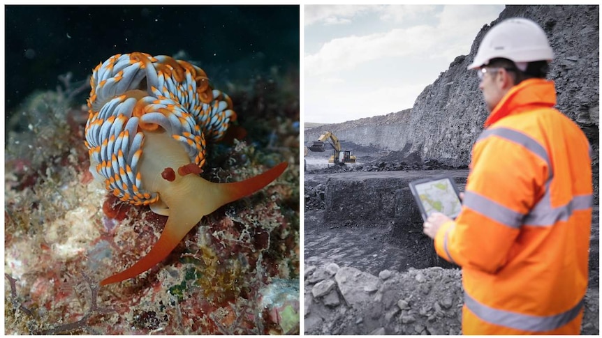
[[[461,335],[462,272],[440,267],[379,276],[305,266],[306,335]],[[582,335],[599,334],[599,291],[585,296]]]

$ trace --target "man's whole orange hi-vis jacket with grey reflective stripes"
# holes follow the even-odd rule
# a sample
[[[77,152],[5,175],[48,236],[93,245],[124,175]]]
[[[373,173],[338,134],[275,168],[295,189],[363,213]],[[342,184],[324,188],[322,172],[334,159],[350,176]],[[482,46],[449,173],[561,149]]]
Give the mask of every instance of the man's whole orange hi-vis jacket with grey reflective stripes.
[[[553,109],[554,82],[514,86],[485,121],[455,221],[437,254],[462,266],[464,335],[580,333],[589,233],[589,143]]]

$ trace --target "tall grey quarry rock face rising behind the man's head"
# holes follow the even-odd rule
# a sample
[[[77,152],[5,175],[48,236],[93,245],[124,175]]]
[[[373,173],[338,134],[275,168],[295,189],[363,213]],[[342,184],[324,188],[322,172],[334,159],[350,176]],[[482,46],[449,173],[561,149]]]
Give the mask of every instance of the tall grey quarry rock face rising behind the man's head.
[[[468,56],[458,56],[427,86],[411,109],[373,118],[325,125],[305,131],[305,140],[325,130],[339,139],[388,151],[418,153],[455,167],[466,167],[473,142],[483,131],[487,109],[478,80],[467,71],[480,41],[492,25],[508,17],[538,22],[555,50],[548,78],[556,83],[557,108],[580,125],[592,144],[594,203],[599,173],[599,6],[506,6],[483,26]]]

